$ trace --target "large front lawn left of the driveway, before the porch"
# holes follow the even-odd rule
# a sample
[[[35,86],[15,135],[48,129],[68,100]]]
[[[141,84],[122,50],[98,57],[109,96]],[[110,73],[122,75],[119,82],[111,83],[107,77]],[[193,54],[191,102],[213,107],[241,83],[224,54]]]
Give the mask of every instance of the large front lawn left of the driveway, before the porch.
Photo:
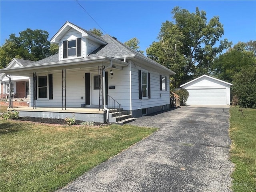
[[[54,191],[156,131],[129,125],[0,123],[1,191]]]

